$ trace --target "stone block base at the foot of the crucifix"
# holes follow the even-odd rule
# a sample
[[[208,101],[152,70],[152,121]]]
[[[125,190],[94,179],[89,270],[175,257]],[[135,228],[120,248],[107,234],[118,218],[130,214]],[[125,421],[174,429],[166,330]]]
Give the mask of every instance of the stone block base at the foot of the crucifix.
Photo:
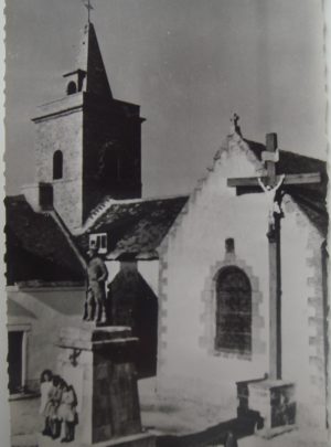
[[[253,421],[255,432],[273,437],[296,427],[295,384],[284,380],[237,382],[238,417]]]

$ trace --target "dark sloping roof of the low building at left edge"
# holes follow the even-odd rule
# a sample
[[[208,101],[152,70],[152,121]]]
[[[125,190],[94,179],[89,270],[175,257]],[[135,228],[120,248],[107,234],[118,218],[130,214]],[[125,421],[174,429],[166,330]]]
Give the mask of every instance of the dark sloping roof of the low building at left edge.
[[[34,212],[23,195],[4,203],[8,284],[84,279],[77,255],[51,214]]]

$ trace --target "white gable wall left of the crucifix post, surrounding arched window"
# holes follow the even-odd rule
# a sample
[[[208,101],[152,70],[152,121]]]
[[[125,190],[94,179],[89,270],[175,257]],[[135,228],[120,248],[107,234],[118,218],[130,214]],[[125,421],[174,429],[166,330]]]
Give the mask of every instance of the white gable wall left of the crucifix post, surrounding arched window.
[[[264,352],[253,359],[225,358],[211,353],[213,339],[205,340],[206,284],[225,257],[225,240],[235,240],[236,258],[259,279],[260,313],[267,317],[268,244],[267,205],[264,194],[238,198],[226,185],[229,177],[255,175],[254,164],[241,149],[223,152],[214,172],[191,198],[186,214],[168,240],[161,273],[161,329],[158,386],[160,392],[184,394],[235,407],[235,382],[261,377],[267,372],[267,331]],[[253,212],[254,211],[254,212]],[[244,216],[244,217],[243,217]],[[243,220],[244,219],[244,220]],[[258,256],[257,256],[258,254]],[[162,263],[162,262],[161,262]],[[163,299],[162,299],[163,298]],[[213,316],[212,316],[213,318]],[[178,395],[180,395],[178,394]]]

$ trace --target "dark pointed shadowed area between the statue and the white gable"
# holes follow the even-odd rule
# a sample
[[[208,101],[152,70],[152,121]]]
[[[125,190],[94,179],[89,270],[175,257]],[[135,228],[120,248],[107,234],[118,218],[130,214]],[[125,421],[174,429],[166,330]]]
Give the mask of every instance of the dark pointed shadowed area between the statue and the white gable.
[[[113,324],[129,326],[138,337],[136,364],[139,377],[157,373],[158,298],[137,270],[136,263],[121,263],[109,286]]]

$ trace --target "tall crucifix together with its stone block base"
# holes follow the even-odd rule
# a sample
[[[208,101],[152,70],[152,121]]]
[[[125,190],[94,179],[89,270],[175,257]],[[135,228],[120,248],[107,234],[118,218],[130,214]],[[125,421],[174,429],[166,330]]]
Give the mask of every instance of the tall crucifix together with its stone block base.
[[[281,199],[287,185],[320,183],[319,172],[285,174],[277,172],[279,151],[277,135],[266,136],[266,150],[261,152],[265,175],[257,178],[228,179],[227,185],[236,188],[237,194],[261,192],[268,201],[269,247],[269,371],[267,380],[239,382],[237,395],[238,416],[263,418],[260,433],[287,429],[293,426],[296,415],[295,384],[281,377],[281,258],[280,221],[284,217]],[[248,401],[249,396],[249,401]],[[255,416],[254,416],[255,415]],[[258,428],[258,427],[257,427]]]

